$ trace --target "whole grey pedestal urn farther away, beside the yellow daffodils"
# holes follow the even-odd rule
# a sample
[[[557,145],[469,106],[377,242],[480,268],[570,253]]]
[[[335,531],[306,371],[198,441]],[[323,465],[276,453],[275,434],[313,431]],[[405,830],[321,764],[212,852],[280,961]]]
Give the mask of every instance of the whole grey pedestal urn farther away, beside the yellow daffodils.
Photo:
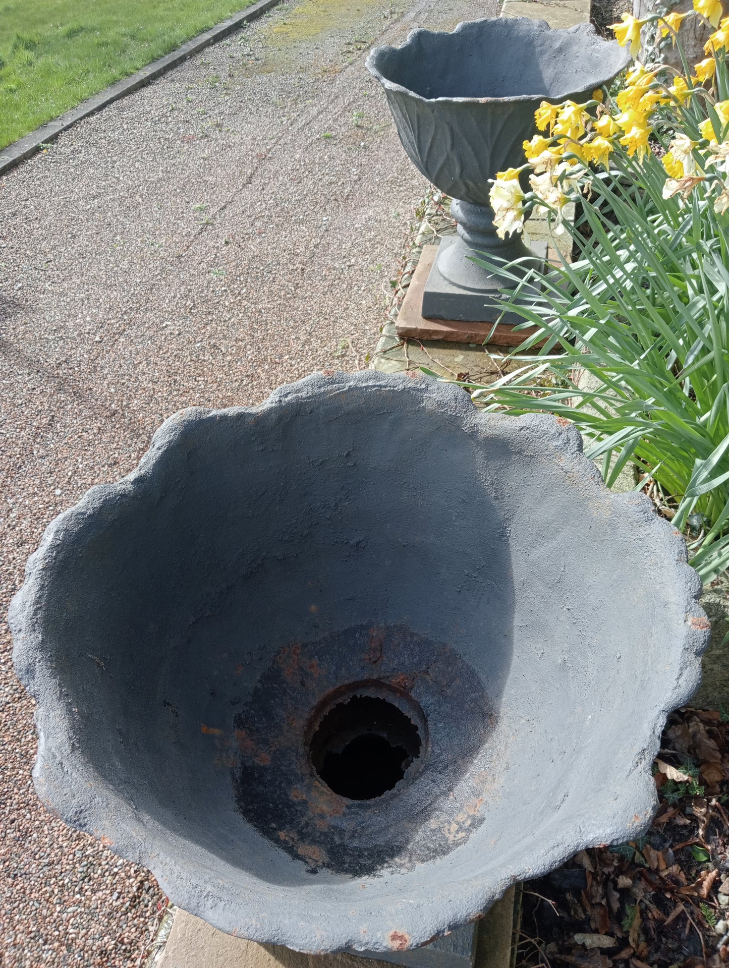
[[[521,259],[515,271],[523,275],[538,264],[520,235],[497,236],[490,180],[524,164],[522,144],[536,132],[543,100],[585,102],[629,61],[592,24],[553,30],[530,17],[471,20],[452,33],[413,30],[404,45],[370,53],[367,67],[384,87],[410,161],[454,199],[459,241],[442,247],[433,266],[424,317],[494,318],[493,296],[504,282],[474,255]],[[455,315],[454,288],[463,293]]]

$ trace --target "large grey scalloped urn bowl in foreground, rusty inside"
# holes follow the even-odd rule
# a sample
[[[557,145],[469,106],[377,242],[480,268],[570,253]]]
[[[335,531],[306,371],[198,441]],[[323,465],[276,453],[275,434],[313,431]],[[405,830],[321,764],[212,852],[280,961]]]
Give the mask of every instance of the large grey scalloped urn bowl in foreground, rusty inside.
[[[708,622],[681,535],[581,448],[375,372],[171,417],[13,601],[40,797],[175,904],[309,952],[426,944],[635,836]],[[338,696],[417,731],[378,799],[315,770]]]

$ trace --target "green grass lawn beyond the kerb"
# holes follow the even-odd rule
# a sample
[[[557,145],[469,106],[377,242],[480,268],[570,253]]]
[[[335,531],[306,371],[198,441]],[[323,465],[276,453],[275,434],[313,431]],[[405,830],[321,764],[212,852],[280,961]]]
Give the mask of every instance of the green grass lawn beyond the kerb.
[[[253,0],[0,0],[0,148]]]

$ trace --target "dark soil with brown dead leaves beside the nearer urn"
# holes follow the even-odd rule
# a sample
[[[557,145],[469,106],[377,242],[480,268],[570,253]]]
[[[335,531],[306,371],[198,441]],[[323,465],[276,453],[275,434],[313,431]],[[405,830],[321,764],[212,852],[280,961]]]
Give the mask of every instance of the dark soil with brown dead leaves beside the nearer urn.
[[[653,764],[644,836],[524,885],[517,968],[718,968],[729,960],[729,714],[684,708]]]

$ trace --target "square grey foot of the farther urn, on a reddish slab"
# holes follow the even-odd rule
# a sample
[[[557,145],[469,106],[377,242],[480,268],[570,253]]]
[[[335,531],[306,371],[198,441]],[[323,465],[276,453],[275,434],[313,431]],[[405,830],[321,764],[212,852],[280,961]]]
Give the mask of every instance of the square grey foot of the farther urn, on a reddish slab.
[[[547,257],[546,242],[534,242],[531,249],[527,249],[523,244],[520,248],[527,255],[533,256],[533,267],[541,269]],[[501,317],[501,309],[491,297],[499,295],[499,289],[504,286],[504,281],[498,276],[490,275],[482,266],[472,262],[471,257],[477,255],[478,253],[470,249],[457,235],[449,235],[440,240],[438,257],[433,262],[423,291],[421,313],[424,318],[492,323],[500,319],[501,323],[510,326],[524,322],[524,318],[517,313],[506,313]],[[472,287],[458,285],[446,279],[439,267],[439,263],[443,261],[461,262],[467,271],[472,266],[475,285]],[[527,267],[525,265],[525,273]]]

